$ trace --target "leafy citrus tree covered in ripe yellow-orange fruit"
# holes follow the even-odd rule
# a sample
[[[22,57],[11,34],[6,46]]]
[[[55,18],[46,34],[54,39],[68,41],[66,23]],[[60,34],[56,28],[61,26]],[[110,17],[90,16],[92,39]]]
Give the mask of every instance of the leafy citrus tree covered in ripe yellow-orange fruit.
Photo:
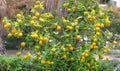
[[[66,0],[62,19],[50,12],[40,13],[39,10],[44,11],[43,3],[37,1],[27,16],[20,13],[14,21],[3,19],[8,38],[22,39],[16,55],[19,57],[24,49],[29,50],[23,58],[32,58],[41,70],[99,71],[103,54],[113,45],[106,29],[111,21],[98,3]],[[116,45],[117,41],[113,43]]]

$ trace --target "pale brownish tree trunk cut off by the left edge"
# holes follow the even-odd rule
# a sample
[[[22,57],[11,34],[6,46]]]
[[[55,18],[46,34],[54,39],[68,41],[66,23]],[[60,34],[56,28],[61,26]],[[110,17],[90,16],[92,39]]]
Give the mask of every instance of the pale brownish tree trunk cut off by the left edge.
[[[3,44],[3,37],[5,35],[4,26],[2,24],[2,19],[6,15],[6,1],[0,0],[0,55],[5,54],[5,47]]]

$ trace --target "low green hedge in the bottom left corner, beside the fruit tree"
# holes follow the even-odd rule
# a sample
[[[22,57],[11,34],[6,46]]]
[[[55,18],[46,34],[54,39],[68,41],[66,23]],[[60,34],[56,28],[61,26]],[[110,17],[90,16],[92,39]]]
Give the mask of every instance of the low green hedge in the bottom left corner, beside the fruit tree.
[[[0,71],[29,71],[31,68],[29,61],[18,57],[0,56]]]

